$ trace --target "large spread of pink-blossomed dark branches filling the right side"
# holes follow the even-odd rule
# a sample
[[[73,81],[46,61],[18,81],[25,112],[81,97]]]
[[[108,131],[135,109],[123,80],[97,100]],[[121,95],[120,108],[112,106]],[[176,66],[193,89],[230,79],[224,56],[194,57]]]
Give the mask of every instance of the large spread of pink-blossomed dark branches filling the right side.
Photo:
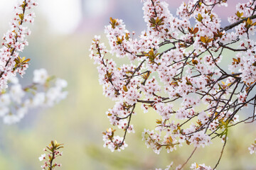
[[[110,18],[105,27],[110,50],[100,36],[90,47],[103,94],[116,101],[107,117],[124,130],[122,137],[114,135],[112,128],[103,132],[104,146],[112,152],[127,147],[127,133],[134,132],[134,108],[142,107],[144,113],[151,109],[160,116],[155,130],[142,132],[146,146],[157,154],[191,145],[190,159],[198,147],[220,137],[223,149],[213,168],[191,165],[191,169],[215,169],[230,128],[255,120],[256,2],[237,4],[235,15],[223,26],[215,6],[228,6],[226,0],[191,0],[181,4],[176,16],[165,1],[142,1],[147,29],[138,38],[122,20]],[[129,63],[117,66],[108,53],[127,57]],[[223,60],[229,64],[224,66]],[[239,120],[245,107],[252,112]],[[256,145],[249,149],[255,153]]]

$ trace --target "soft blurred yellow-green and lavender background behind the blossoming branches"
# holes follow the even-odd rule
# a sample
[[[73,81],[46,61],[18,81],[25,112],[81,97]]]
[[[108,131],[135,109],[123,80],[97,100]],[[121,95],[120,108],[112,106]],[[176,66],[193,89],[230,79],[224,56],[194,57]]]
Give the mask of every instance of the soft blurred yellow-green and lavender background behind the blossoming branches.
[[[9,29],[14,16],[16,0],[0,0],[0,34]],[[176,14],[181,1],[169,0],[171,13]],[[227,16],[235,13],[238,0],[230,1],[228,8],[217,12],[227,23]],[[142,141],[144,128],[153,130],[159,116],[154,112],[142,113],[137,109],[132,124],[135,134],[127,135],[127,147],[122,152],[110,152],[102,147],[102,132],[110,128],[105,115],[114,103],[102,95],[96,65],[89,57],[94,35],[104,35],[109,18],[122,18],[127,29],[137,34],[146,29],[140,0],[43,0],[38,1],[36,18],[28,38],[29,45],[21,56],[31,58],[31,65],[23,77],[23,84],[32,81],[34,69],[46,68],[49,74],[68,81],[68,98],[49,109],[28,113],[16,125],[0,123],[0,169],[41,169],[38,157],[50,140],[64,143],[59,169],[156,169],[165,168],[172,161],[183,164],[193,148],[184,146],[167,154],[154,154]],[[256,169],[255,155],[247,147],[256,137],[255,126],[239,125],[230,130],[228,144],[218,169]],[[121,135],[121,134],[120,134]],[[221,142],[198,149],[188,162],[214,166],[218,161]],[[188,168],[186,168],[188,169]]]

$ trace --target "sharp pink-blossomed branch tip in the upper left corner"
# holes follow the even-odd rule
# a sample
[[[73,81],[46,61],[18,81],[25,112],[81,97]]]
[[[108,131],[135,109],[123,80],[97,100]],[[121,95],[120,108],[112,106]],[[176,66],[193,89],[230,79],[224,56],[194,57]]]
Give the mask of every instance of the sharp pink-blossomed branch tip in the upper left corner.
[[[31,11],[38,4],[34,0],[18,1],[14,6],[15,16],[11,20],[11,28],[4,34],[0,49],[0,90],[6,89],[7,81],[16,74],[25,74],[28,68],[28,61],[25,57],[20,57],[24,47],[28,45],[26,36],[31,31],[24,26],[26,23],[33,23],[35,13]],[[30,10],[29,12],[27,12]]]

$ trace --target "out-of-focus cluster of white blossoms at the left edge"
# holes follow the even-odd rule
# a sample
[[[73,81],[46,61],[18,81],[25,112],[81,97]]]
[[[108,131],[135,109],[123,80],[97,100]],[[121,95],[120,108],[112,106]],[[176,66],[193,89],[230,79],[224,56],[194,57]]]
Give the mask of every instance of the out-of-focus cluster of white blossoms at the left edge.
[[[68,91],[64,79],[50,77],[46,69],[33,72],[33,83],[21,86],[17,77],[9,77],[9,87],[0,93],[0,117],[4,123],[17,123],[33,108],[47,108],[63,100]]]

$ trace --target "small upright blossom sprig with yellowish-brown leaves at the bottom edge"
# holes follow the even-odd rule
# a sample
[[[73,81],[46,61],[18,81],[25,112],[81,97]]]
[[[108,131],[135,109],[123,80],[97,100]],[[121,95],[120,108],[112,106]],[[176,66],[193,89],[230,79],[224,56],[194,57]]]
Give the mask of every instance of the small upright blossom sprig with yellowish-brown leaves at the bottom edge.
[[[44,164],[41,166],[42,169],[53,170],[61,164],[54,163],[54,159],[63,155],[63,152],[60,152],[59,149],[63,148],[63,144],[58,144],[57,141],[53,140],[50,142],[50,145],[43,149],[43,151],[48,152],[48,154],[41,154],[39,161],[44,161]]]

